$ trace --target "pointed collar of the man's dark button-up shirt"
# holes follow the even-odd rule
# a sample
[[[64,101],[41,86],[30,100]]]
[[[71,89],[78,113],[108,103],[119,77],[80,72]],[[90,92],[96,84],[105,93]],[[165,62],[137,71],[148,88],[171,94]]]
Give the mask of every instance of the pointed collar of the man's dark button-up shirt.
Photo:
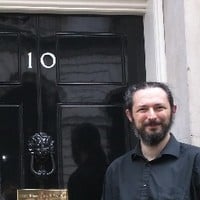
[[[179,154],[180,154],[180,143],[176,140],[173,134],[170,134],[169,142],[167,143],[165,148],[161,151],[159,157],[162,157],[163,155],[168,155],[178,158]],[[135,148],[132,151],[132,159],[135,160],[137,158],[144,158],[141,151],[140,142],[136,144]]]

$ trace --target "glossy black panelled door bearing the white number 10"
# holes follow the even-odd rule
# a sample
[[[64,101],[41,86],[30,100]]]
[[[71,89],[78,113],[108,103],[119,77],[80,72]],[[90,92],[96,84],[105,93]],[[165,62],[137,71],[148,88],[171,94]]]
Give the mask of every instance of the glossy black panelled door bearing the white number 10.
[[[135,142],[123,93],[142,80],[141,16],[1,14],[4,198],[16,199],[19,188],[69,187],[79,194],[89,187],[82,172],[102,180],[106,166]]]

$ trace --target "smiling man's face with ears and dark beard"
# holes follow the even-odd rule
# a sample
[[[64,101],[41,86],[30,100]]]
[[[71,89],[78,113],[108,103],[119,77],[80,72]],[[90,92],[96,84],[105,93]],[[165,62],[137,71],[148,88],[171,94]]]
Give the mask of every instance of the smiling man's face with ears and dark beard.
[[[134,94],[132,110],[126,110],[126,114],[142,142],[153,146],[167,135],[175,111],[163,89],[146,88]]]

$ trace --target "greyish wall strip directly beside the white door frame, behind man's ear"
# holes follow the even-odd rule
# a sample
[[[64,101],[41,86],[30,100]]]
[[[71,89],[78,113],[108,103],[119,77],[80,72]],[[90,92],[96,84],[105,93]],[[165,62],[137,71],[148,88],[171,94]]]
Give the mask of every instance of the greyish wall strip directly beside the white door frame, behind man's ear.
[[[172,132],[191,143],[184,1],[164,0],[164,24],[167,80],[177,104]]]

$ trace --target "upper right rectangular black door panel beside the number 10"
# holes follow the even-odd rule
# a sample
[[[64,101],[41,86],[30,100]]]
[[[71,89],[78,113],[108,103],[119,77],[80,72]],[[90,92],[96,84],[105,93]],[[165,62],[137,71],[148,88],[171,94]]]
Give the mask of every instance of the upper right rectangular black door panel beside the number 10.
[[[57,38],[60,83],[122,82],[124,59],[120,36],[74,34]]]

